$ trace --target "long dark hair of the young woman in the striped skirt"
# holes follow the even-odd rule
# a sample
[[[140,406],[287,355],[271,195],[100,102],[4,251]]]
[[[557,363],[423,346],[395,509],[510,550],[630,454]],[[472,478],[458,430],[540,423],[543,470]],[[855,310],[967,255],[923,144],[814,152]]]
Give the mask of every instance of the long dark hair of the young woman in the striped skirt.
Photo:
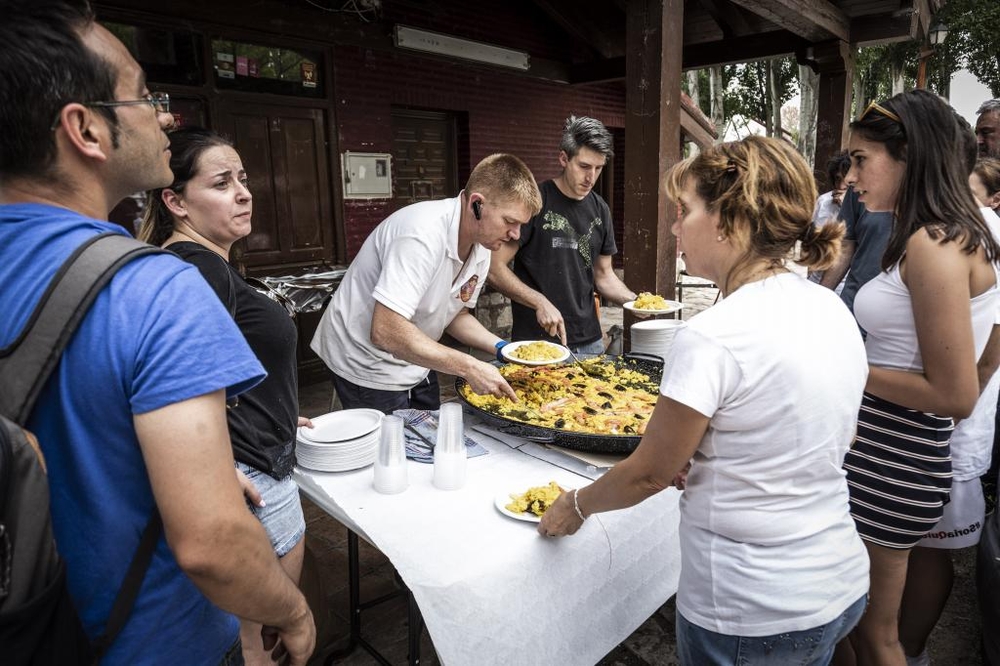
[[[906,163],[883,270],[902,258],[910,236],[921,228],[938,242],[961,242],[967,254],[982,247],[990,261],[1000,257],[969,188],[968,130],[944,100],[926,90],[901,93],[871,105],[851,130]]]

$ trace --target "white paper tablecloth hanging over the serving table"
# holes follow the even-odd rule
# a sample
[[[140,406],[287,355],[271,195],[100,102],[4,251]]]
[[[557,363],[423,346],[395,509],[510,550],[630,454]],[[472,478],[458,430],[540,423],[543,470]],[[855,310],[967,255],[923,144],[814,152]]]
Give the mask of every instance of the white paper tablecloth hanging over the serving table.
[[[590,518],[574,536],[546,539],[535,523],[501,514],[495,497],[551,480],[564,488],[590,480],[467,433],[490,454],[469,459],[461,490],[434,488],[432,465],[412,461],[409,487],[398,495],[372,489],[371,467],[297,468],[295,480],[389,558],[442,662],[597,662],[677,591],[679,493],[666,490],[599,514],[600,522]]]

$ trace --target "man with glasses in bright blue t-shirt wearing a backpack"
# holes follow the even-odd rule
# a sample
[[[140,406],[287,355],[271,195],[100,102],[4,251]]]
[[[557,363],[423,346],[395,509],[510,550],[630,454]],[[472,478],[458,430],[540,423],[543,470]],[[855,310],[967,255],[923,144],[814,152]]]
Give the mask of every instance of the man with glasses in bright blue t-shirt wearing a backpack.
[[[103,221],[117,202],[172,180],[169,101],[146,89],[86,0],[5,0],[3,13],[0,350],[84,240],[123,233]],[[306,663],[312,615],[247,511],[226,427],[227,395],[263,376],[197,269],[163,254],[115,275],[42,390],[27,425],[45,454],[55,539],[92,638],[143,527],[154,511],[163,520],[102,664],[242,663],[234,614]]]

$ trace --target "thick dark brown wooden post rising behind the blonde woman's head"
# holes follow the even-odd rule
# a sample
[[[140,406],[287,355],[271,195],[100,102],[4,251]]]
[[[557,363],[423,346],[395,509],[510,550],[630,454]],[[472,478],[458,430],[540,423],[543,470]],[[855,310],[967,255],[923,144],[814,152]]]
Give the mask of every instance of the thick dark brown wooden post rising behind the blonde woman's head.
[[[684,2],[629,0],[626,14],[625,281],[673,298],[674,209],[662,183],[681,157]]]

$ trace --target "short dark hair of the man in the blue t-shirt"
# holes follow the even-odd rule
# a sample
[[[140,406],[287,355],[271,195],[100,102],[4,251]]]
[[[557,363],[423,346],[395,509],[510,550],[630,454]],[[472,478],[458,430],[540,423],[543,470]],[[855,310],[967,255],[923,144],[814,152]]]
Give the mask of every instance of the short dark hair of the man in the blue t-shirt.
[[[87,0],[0,0],[0,181],[51,171],[64,106],[115,99],[114,67],[82,42],[93,21]],[[114,109],[94,108],[117,143]]]

